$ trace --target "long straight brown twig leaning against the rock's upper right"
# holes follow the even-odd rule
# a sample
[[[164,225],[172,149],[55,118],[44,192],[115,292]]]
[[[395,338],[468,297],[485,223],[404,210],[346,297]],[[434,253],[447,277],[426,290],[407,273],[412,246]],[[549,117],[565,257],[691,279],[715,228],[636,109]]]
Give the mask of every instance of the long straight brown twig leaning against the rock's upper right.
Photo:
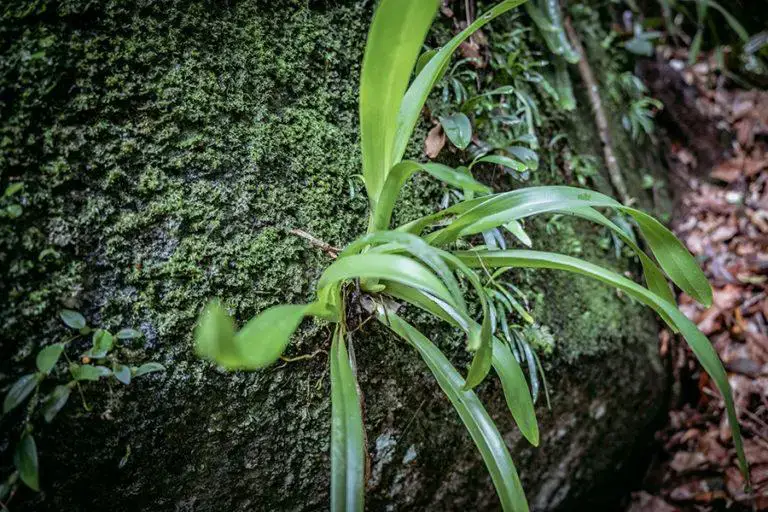
[[[595,114],[595,123],[597,124],[600,143],[603,146],[605,165],[608,167],[608,177],[611,180],[611,185],[613,185],[613,188],[618,192],[621,202],[629,205],[632,202],[632,199],[627,192],[627,186],[621,175],[618,160],[616,160],[616,155],[613,152],[608,118],[605,115],[603,102],[600,99],[600,90],[597,87],[595,75],[592,73],[592,68],[587,60],[587,54],[584,51],[584,47],[581,45],[581,40],[579,39],[578,34],[573,29],[570,18],[565,19],[565,31],[568,33],[568,39],[571,41],[571,45],[576,50],[576,53],[581,55],[581,59],[579,59],[579,75],[581,75],[581,80],[584,82],[584,85],[587,86],[589,103],[592,105],[592,111]]]

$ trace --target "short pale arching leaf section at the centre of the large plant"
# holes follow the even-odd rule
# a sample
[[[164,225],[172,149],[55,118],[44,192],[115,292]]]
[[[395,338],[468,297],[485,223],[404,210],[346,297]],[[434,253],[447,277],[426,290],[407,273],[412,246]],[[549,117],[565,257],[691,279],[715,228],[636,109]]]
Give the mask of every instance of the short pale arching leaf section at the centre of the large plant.
[[[421,263],[395,254],[366,253],[339,258],[320,277],[318,287],[354,278],[388,279],[424,290],[449,304],[454,300],[445,285]]]

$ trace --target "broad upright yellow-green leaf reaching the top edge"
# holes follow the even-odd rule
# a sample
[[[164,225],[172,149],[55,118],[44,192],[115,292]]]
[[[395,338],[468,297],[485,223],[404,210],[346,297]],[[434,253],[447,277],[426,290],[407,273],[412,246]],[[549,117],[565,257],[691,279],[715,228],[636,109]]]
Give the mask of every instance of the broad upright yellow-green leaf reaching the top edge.
[[[375,204],[390,167],[400,102],[437,12],[437,0],[381,0],[373,16],[360,75],[363,180]]]

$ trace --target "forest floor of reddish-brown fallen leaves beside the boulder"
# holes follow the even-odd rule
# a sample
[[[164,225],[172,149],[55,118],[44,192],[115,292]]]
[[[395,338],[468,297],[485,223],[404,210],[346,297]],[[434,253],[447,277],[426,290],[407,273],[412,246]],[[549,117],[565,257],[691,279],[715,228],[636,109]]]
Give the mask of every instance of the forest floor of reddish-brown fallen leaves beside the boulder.
[[[685,294],[678,303],[728,371],[752,491],[745,490],[720,395],[684,341],[664,330],[659,349],[673,369],[672,407],[628,512],[768,510],[768,92],[734,89],[715,72],[714,58],[687,67],[684,52],[661,53],[666,69],[695,91],[699,121],[682,131],[703,136],[715,127],[730,140],[717,147],[671,135],[668,163],[678,191],[674,230],[714,289],[708,309]],[[712,162],[702,148],[717,150]]]

